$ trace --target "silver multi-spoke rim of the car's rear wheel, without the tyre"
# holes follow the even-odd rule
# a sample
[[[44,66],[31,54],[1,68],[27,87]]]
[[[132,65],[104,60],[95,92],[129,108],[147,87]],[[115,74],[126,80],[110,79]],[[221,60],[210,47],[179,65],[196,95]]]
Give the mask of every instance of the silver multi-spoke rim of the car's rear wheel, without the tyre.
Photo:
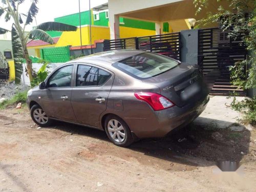
[[[116,119],[111,119],[108,123],[108,132],[116,142],[123,142],[125,139],[125,131],[123,125]]]

